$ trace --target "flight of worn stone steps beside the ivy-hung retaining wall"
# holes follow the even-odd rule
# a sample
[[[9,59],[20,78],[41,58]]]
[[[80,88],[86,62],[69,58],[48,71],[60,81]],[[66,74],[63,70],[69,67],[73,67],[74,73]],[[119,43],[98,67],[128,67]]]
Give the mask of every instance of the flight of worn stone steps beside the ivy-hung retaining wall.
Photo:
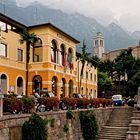
[[[130,107],[115,107],[99,133],[99,140],[126,140],[132,111]]]

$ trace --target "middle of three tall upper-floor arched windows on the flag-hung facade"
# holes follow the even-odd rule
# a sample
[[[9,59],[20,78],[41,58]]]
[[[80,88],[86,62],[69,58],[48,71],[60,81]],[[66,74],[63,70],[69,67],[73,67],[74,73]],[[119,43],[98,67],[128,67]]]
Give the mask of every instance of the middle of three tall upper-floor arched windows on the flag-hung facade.
[[[66,63],[66,58],[65,58],[65,48],[64,48],[64,44],[61,44],[60,46],[60,64],[65,66]]]

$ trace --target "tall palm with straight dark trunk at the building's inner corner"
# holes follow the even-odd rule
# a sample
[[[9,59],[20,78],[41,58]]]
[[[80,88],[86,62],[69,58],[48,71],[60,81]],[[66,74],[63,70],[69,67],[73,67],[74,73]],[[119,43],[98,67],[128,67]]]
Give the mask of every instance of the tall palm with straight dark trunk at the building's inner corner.
[[[30,47],[34,46],[37,41],[37,36],[34,33],[29,33],[26,29],[21,34],[20,43],[26,42],[26,96],[28,96],[28,64],[30,61]]]

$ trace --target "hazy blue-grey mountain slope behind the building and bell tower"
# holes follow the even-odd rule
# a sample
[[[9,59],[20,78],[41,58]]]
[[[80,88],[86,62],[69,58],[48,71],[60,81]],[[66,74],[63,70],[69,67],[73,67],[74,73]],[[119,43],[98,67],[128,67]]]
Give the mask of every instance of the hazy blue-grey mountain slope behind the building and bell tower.
[[[79,13],[67,14],[61,10],[50,9],[39,2],[34,2],[23,8],[18,7],[16,4],[8,4],[9,1],[5,2],[5,9],[2,5],[0,6],[1,12],[5,12],[11,18],[25,25],[50,22],[79,41],[85,40],[89,52],[93,52],[93,38],[97,32],[103,33],[105,50],[107,51],[138,44],[138,36],[129,35],[115,23],[104,27],[94,18],[89,18]],[[82,44],[78,45],[78,52],[80,52],[81,46]]]

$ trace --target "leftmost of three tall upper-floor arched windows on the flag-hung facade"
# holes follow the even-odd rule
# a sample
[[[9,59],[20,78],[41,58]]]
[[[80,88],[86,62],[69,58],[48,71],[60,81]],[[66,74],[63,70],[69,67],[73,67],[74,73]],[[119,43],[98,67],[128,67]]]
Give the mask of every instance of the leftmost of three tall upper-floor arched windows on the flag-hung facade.
[[[51,62],[57,63],[57,45],[55,40],[52,40]]]

